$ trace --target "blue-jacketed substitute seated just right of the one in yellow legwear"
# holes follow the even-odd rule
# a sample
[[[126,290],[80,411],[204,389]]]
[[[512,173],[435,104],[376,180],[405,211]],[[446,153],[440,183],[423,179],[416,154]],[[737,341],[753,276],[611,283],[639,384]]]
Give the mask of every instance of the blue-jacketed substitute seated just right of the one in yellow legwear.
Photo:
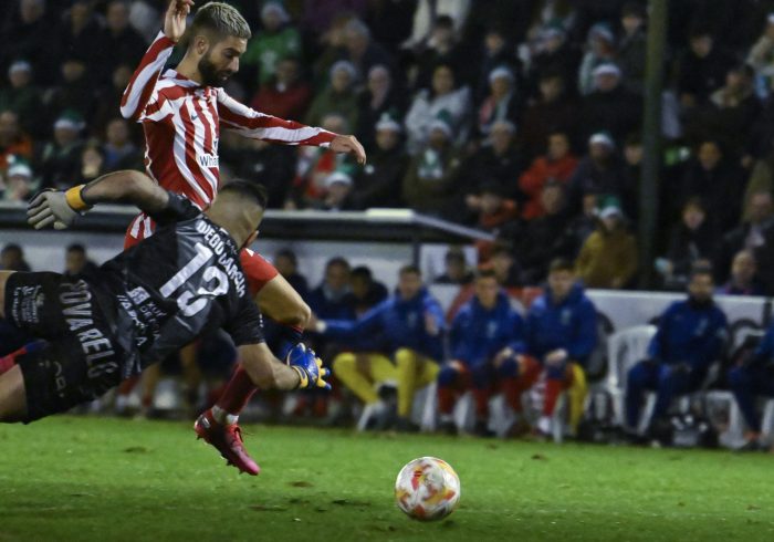
[[[475,296],[462,305],[451,324],[451,359],[438,375],[438,410],[441,429],[457,432],[452,411],[460,393],[472,390],[475,434],[489,435],[489,397],[496,384],[495,356],[505,348],[524,351],[524,321],[511,308],[494,271],[475,277]]]

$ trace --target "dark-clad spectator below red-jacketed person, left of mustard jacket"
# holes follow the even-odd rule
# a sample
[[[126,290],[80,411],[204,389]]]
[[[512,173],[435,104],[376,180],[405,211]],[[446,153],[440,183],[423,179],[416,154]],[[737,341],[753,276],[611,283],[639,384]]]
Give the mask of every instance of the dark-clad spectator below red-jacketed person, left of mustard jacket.
[[[543,216],[527,221],[516,230],[519,240],[519,259],[524,269],[524,280],[527,284],[537,284],[548,271],[551,261],[566,253],[565,231],[569,217],[567,215],[567,198],[562,184],[556,180],[546,183],[541,192]]]

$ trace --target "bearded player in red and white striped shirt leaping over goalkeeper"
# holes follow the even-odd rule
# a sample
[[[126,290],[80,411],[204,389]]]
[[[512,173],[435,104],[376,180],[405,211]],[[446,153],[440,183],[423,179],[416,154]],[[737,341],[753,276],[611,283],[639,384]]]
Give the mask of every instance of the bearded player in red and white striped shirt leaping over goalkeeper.
[[[250,27],[233,7],[209,2],[197,10],[186,30],[192,6],[192,0],[171,0],[164,30],[143,56],[121,104],[124,117],[143,125],[145,166],[151,178],[163,188],[182,194],[199,208],[207,209],[220,183],[221,128],[272,143],[351,153],[360,164],[365,163],[363,146],[354,136],[264,115],[229,96],[222,85],[239,70],[239,58],[251,37]],[[184,59],[175,69],[164,71],[180,39],[185,39],[182,44],[187,48]],[[140,213],[128,228],[125,248],[151,234],[153,228],[150,218]],[[259,254],[244,249],[241,264],[262,312],[285,324],[290,348],[301,340],[310,317],[308,306]],[[244,450],[237,420],[254,390],[240,366],[221,398],[195,425],[197,434],[230,463],[251,475],[257,475],[259,468]]]

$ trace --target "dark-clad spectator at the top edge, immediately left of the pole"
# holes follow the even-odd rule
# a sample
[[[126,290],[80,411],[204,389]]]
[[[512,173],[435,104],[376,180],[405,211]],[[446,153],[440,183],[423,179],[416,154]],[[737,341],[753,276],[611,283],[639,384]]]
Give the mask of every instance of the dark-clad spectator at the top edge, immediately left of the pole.
[[[624,33],[618,41],[617,62],[624,72],[626,86],[636,93],[642,92],[642,83],[645,82],[646,20],[647,13],[641,3],[627,2],[624,4],[620,15]]]

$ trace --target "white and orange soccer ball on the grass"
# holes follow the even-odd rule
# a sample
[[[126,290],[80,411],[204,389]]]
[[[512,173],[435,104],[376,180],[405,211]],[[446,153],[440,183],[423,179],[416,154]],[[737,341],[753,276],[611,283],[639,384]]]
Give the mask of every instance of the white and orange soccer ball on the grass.
[[[440,520],[457,508],[460,479],[448,462],[435,457],[409,461],[395,480],[395,501],[410,518]]]

